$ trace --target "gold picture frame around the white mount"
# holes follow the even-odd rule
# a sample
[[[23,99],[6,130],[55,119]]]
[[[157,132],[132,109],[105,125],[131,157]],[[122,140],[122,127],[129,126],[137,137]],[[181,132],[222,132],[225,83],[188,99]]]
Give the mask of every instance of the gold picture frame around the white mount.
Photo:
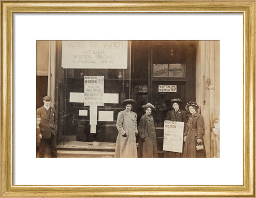
[[[255,1],[2,1],[1,197],[255,196]],[[13,185],[13,13],[243,13],[243,185]]]

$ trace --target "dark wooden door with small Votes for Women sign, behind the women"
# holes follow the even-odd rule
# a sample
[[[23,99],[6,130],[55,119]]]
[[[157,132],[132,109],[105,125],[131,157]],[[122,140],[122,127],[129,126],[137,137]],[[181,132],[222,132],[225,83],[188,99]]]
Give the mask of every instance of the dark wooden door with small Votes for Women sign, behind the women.
[[[189,101],[195,101],[195,51],[193,41],[153,41],[149,61],[149,102],[155,105],[153,117],[156,126],[158,156],[163,156],[163,126],[166,114],[172,109],[170,101],[180,98],[185,110]]]

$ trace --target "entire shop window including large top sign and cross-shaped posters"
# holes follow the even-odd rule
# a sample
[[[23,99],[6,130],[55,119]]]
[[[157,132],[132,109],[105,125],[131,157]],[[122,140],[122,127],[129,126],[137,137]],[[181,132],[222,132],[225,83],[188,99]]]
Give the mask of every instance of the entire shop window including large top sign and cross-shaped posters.
[[[76,67],[80,63],[86,63],[86,61],[97,60],[97,62],[104,63],[103,61],[105,61],[105,59],[106,61],[108,61],[107,59],[110,61],[120,59],[115,52],[112,56],[111,50],[100,51],[99,48],[97,49],[97,45],[103,43],[103,45],[105,45],[104,47],[114,49],[120,47],[122,42],[95,41],[90,42],[91,51],[81,50],[83,45],[87,43],[83,41],[57,43],[58,67],[56,71],[56,90],[58,91],[55,92],[55,95],[57,98],[57,109],[58,112],[60,112],[58,142],[116,142],[118,134],[116,129],[117,114],[119,111],[123,110],[121,102],[132,97],[132,86],[134,84],[131,71],[130,43],[128,42],[128,46],[126,45],[127,57],[125,64],[127,64],[127,66],[125,65],[125,69],[123,69],[124,67],[111,69],[106,67],[105,69],[101,69],[101,66],[90,69],[70,68],[73,67],[73,63],[74,65],[76,64]],[[74,50],[71,49],[71,51],[67,51],[65,47],[74,47]],[[93,48],[95,48],[95,50]],[[92,54],[92,52],[95,52],[96,55]],[[63,62],[66,61],[68,64],[70,63],[70,57],[69,59],[67,58],[70,53],[74,54],[71,56],[71,58],[74,57],[74,59],[71,61],[71,66],[68,65],[69,68],[65,68],[65,65],[63,67]],[[98,55],[98,53],[102,53],[102,57]],[[60,62],[58,62],[58,60]],[[90,85],[86,85],[85,77],[95,78],[92,80],[98,80],[99,77],[103,79],[103,87],[101,87],[102,93],[97,93],[97,86],[90,87]],[[91,89],[91,93],[89,93],[89,89]],[[93,92],[94,89],[95,93]],[[108,94],[108,96],[105,94]],[[101,99],[103,103],[85,105],[86,96],[95,98],[95,101],[88,99],[95,102],[94,104],[97,103],[97,97],[103,96],[103,99]],[[94,126],[92,127],[92,125]]]

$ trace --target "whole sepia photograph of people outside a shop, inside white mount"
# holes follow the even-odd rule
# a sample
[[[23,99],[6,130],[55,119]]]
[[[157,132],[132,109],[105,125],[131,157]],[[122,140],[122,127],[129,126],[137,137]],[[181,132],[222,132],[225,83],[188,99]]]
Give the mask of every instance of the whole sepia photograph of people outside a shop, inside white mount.
[[[220,158],[219,40],[37,40],[37,158]]]

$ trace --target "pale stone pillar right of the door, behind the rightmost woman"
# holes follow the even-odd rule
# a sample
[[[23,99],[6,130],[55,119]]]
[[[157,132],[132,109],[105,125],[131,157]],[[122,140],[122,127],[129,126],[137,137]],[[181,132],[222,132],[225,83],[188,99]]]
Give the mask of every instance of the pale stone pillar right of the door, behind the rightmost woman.
[[[220,112],[219,41],[199,41],[196,53],[196,102],[205,123],[205,149],[211,157],[212,120]]]

